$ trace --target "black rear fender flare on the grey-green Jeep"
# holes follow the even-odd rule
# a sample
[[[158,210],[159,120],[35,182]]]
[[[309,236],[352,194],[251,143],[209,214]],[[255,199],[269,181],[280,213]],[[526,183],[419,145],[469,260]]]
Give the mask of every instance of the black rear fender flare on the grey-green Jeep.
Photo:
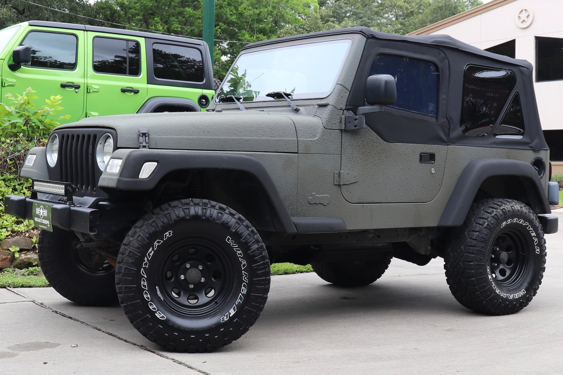
[[[551,213],[542,181],[531,164],[512,159],[477,159],[463,169],[438,226],[462,225],[482,182],[494,176],[520,177],[530,197],[531,209],[537,214]]]

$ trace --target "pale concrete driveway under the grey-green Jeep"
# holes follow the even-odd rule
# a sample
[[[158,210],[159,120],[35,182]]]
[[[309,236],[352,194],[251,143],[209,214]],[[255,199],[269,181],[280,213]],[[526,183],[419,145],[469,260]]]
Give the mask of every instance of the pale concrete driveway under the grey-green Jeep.
[[[315,274],[272,276],[256,325],[207,354],[162,350],[120,307],[77,306],[52,288],[0,289],[0,372],[561,374],[563,232],[547,235],[547,252],[538,295],[508,316],[459,305],[441,259],[424,267],[394,259],[381,279],[358,289]]]

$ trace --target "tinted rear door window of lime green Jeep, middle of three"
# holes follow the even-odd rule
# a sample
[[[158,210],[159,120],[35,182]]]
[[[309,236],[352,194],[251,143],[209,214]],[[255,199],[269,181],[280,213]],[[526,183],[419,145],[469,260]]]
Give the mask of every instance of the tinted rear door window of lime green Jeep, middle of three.
[[[139,74],[139,43],[113,38],[94,38],[93,66],[98,73]]]

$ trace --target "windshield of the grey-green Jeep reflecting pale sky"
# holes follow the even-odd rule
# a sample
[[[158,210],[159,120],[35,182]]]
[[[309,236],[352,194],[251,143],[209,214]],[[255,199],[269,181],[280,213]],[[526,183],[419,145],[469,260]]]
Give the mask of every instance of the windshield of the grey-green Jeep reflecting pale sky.
[[[280,91],[291,99],[328,96],[350,44],[350,39],[341,39],[244,53],[235,61],[217,100],[233,101],[231,95],[242,101],[276,100],[266,94]]]

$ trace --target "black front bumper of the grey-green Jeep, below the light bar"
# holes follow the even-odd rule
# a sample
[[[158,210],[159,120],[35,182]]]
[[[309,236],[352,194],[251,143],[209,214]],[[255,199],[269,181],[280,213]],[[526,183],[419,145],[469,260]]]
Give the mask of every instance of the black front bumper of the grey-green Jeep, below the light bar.
[[[98,233],[99,210],[86,207],[72,207],[51,200],[31,199],[19,195],[6,195],[4,211],[22,219],[32,219],[33,203],[51,205],[52,225],[64,230],[74,230],[81,233],[95,235]]]

